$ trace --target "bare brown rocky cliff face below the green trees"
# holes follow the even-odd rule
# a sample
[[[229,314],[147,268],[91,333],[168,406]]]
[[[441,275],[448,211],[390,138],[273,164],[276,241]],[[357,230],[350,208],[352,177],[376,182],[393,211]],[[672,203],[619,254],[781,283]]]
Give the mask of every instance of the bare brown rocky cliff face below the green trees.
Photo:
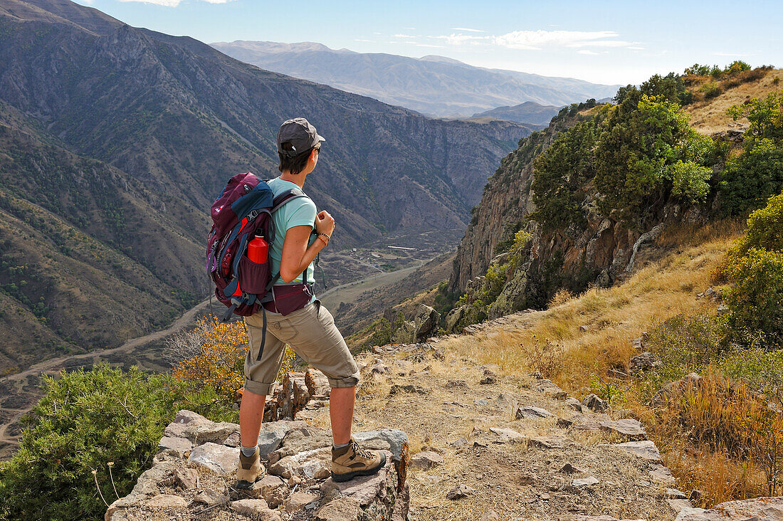
[[[607,287],[623,280],[633,270],[637,252],[655,241],[671,223],[695,223],[707,217],[705,206],[669,201],[659,211],[646,215],[629,226],[602,215],[592,186],[579,204],[584,216],[582,226],[545,230],[531,219],[533,200],[533,162],[554,142],[557,134],[579,121],[579,115],[558,117],[549,128],[523,139],[520,147],[501,161],[500,168],[485,186],[481,204],[474,208],[473,219],[457,251],[451,291],[467,293],[467,304],[487,294],[491,284],[503,289],[486,311],[489,318],[500,317],[526,308],[541,308],[560,288],[579,292],[590,283]],[[564,208],[565,212],[565,208]],[[510,262],[509,250],[519,230],[529,238]],[[485,277],[490,266],[500,282]],[[489,302],[488,302],[489,303]],[[474,322],[474,309],[456,309],[447,317],[449,327]],[[471,313],[473,315],[471,316]]]

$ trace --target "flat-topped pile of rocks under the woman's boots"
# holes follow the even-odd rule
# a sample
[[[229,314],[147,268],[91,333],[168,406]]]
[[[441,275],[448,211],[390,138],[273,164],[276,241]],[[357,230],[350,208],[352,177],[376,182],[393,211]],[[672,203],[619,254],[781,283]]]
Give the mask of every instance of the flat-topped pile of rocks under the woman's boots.
[[[289,375],[287,382],[298,378]],[[355,438],[363,447],[386,450],[387,464],[374,476],[335,483],[327,429],[302,421],[265,422],[258,445],[266,476],[251,490],[237,490],[239,425],[179,411],[165,429],[152,468],[130,494],[110,505],[105,519],[406,519],[407,436],[382,429]]]

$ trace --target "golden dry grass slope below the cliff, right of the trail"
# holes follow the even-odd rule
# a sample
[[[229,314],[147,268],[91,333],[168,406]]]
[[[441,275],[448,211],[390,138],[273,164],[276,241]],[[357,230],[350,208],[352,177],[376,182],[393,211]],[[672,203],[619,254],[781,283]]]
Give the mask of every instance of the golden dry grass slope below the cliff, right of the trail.
[[[449,338],[446,347],[480,364],[497,364],[506,374],[537,370],[563,389],[583,392],[593,374],[625,370],[629,357],[636,354],[631,340],[651,324],[710,306],[695,296],[709,287],[710,273],[738,230],[734,221],[698,232],[688,226],[669,230],[662,245],[681,240],[680,251],[645,266],[624,284],[592,288],[546,311],[509,317],[506,327]],[[702,237],[705,242],[688,244]]]

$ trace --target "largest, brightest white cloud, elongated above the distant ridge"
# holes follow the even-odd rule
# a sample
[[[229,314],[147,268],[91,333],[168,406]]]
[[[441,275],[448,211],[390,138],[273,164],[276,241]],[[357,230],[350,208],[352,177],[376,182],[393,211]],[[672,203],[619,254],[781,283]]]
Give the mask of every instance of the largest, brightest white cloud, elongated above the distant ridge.
[[[495,38],[497,45],[511,49],[540,50],[544,47],[622,47],[615,31],[513,31]]]

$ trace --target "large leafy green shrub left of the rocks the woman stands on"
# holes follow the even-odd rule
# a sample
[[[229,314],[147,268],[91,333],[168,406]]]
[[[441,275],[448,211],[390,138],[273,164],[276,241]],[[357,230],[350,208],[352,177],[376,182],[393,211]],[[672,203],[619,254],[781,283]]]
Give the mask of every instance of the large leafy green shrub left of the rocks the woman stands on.
[[[114,487],[122,497],[149,468],[165,425],[186,407],[213,419],[215,393],[189,393],[165,374],[106,364],[43,377],[19,451],[0,467],[0,519],[103,519]],[[93,476],[93,471],[96,471]],[[111,471],[111,474],[110,474]]]

